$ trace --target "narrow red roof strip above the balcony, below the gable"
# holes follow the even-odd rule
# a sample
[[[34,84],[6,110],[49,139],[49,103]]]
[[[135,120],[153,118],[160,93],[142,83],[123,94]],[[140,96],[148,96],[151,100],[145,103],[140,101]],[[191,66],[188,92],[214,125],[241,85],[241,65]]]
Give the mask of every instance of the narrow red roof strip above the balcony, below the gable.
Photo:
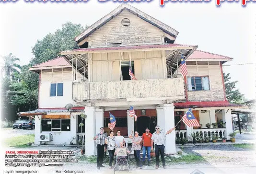
[[[106,51],[106,50],[122,50],[122,49],[143,49],[143,48],[168,48],[168,47],[193,47],[191,45],[181,45],[181,44],[156,44],[156,45],[139,45],[139,46],[112,46],[112,47],[97,47],[97,48],[80,48],[73,49],[66,52],[79,52],[79,51]]]

